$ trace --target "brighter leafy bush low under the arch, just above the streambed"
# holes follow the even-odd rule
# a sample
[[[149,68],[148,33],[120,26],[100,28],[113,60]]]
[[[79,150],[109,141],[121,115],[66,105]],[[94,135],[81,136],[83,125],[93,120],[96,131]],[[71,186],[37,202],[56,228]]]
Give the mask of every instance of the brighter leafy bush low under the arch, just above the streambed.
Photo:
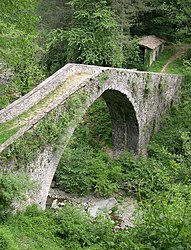
[[[108,196],[116,191],[121,177],[121,168],[113,165],[106,153],[88,146],[88,129],[76,131],[83,137],[74,138],[65,150],[56,175],[59,185],[66,192],[88,194],[94,191],[96,195]],[[85,137],[87,136],[87,137]]]

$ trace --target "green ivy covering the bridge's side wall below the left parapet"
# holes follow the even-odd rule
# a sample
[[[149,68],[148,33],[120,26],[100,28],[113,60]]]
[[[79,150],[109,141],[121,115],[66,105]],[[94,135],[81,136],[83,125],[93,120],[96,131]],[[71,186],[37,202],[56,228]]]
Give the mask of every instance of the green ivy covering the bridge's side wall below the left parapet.
[[[33,161],[37,153],[47,145],[55,149],[60,135],[67,135],[70,126],[76,126],[84,114],[84,106],[88,93],[79,90],[43,118],[32,130],[15,140],[0,157],[0,165],[7,166],[14,162],[16,167],[26,167]]]

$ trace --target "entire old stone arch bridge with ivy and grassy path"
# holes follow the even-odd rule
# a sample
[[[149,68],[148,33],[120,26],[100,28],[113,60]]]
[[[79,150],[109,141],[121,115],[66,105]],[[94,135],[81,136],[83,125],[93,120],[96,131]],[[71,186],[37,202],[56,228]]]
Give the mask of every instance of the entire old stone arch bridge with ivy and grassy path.
[[[182,77],[67,64],[0,111],[1,172],[25,172],[38,183],[28,204],[45,208],[51,181],[70,137],[99,97],[112,122],[114,155],[145,154],[153,132],[177,98]]]

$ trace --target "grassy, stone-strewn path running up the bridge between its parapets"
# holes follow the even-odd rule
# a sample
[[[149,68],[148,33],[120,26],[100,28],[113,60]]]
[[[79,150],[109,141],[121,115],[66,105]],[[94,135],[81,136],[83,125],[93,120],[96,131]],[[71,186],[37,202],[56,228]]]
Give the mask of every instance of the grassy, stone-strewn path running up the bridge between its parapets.
[[[55,104],[61,102],[63,97],[65,99],[67,94],[75,92],[79,84],[84,82],[91,75],[90,73],[82,72],[69,76],[37,104],[21,113],[19,116],[2,123],[0,125],[0,152],[15,139],[15,136],[17,137],[24,134],[24,132],[34,126],[37,121],[42,119],[46,113],[50,112],[55,107]]]

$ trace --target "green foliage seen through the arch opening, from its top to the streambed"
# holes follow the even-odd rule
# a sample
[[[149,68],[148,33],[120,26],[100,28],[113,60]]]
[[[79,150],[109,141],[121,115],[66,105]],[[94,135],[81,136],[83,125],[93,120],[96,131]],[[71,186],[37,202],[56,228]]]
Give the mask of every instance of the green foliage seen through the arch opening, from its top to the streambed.
[[[116,191],[121,168],[102,152],[107,144],[111,145],[111,121],[105,102],[99,99],[90,107],[65,149],[56,173],[59,186],[78,194],[95,192],[108,196]]]

